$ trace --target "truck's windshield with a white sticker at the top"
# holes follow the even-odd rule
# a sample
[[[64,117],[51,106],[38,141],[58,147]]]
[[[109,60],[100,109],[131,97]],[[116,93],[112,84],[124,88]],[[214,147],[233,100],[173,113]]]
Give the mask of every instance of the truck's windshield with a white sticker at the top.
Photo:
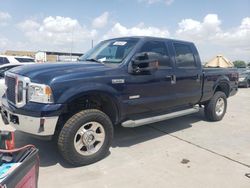
[[[96,61],[119,64],[135,47],[138,39],[111,39],[103,41],[79,58],[80,61]]]

